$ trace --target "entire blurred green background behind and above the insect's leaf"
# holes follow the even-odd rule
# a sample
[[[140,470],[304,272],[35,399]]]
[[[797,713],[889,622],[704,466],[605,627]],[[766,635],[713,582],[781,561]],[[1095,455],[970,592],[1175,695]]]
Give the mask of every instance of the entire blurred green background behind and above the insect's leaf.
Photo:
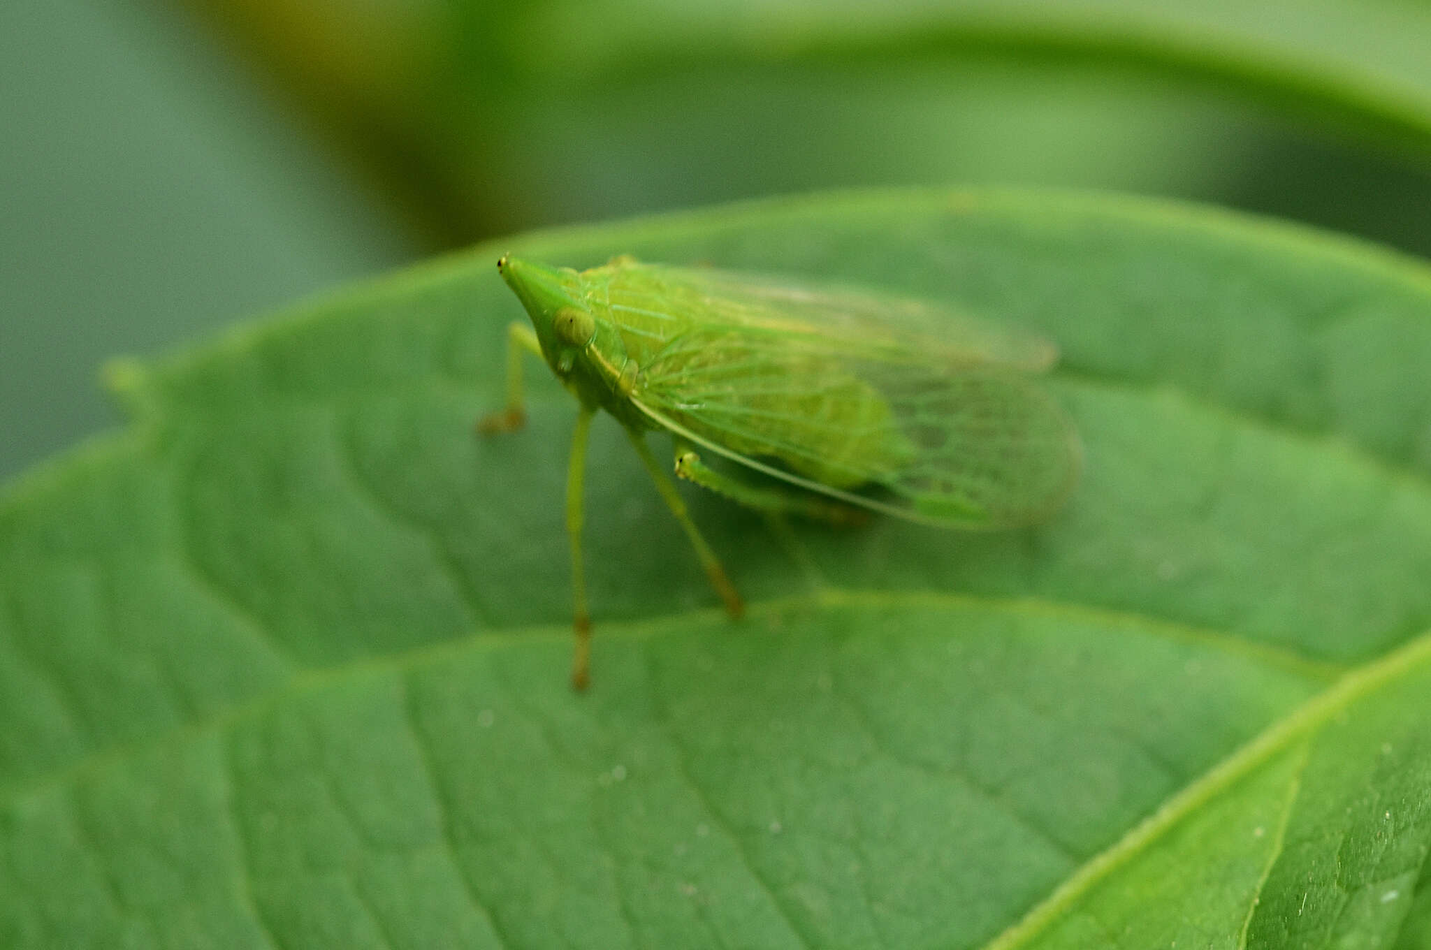
[[[100,362],[532,226],[824,187],[1213,202],[1431,253],[1431,6],[0,4],[0,476]]]

